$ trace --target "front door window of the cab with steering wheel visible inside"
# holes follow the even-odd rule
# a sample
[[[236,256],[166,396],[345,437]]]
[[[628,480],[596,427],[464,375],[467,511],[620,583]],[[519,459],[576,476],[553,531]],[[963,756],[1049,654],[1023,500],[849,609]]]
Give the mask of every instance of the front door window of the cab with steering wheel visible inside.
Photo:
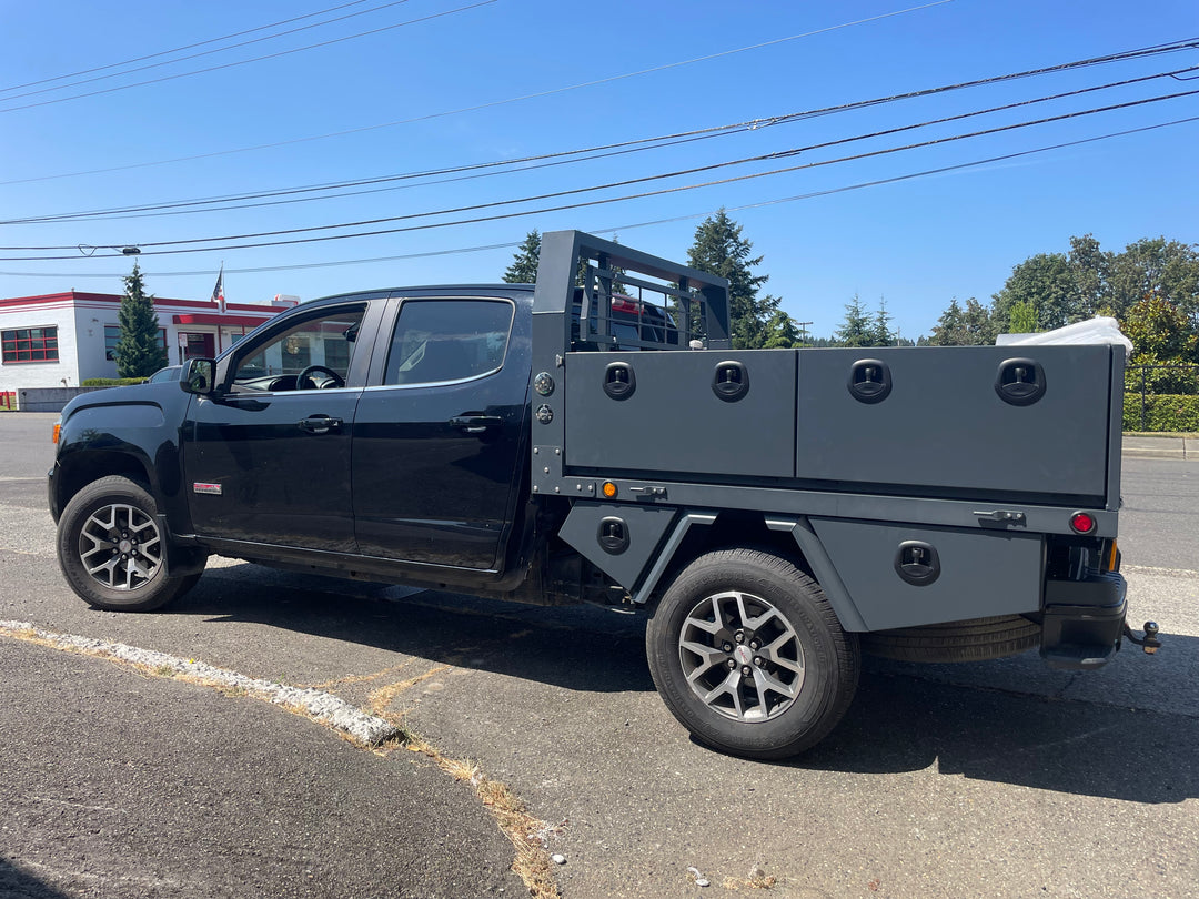
[[[237,360],[237,391],[294,391],[345,385],[364,307],[329,310],[271,334]],[[302,384],[300,375],[303,374]]]

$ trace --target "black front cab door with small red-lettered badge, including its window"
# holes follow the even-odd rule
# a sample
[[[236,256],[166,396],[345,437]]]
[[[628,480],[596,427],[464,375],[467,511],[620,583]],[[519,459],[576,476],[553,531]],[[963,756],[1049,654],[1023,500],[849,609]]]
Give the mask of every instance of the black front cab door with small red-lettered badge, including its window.
[[[183,460],[197,533],[354,551],[350,441],[366,372],[354,357],[364,309],[288,316],[239,344],[227,394],[193,398]]]

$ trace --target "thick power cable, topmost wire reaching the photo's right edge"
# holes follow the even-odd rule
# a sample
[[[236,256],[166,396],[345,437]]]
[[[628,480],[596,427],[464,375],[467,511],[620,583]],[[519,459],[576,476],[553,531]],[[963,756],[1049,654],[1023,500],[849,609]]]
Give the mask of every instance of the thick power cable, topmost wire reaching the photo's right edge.
[[[457,165],[457,167],[448,167],[448,168],[424,170],[424,171],[415,171],[415,173],[402,173],[402,174],[397,174],[397,175],[384,175],[384,176],[370,177],[370,179],[357,179],[357,180],[339,181],[339,182],[326,182],[326,183],[317,183],[317,185],[302,185],[302,186],[297,186],[297,187],[281,188],[281,189],[275,189],[275,191],[260,191],[260,192],[253,192],[253,193],[228,194],[228,195],[222,195],[222,197],[199,198],[199,199],[191,199],[191,200],[177,200],[177,201],[168,201],[168,203],[158,203],[158,204],[149,204],[149,205],[138,205],[138,206],[120,206],[120,207],[112,207],[112,209],[104,209],[104,210],[86,210],[86,211],[79,211],[79,212],[64,212],[64,213],[46,215],[46,216],[30,216],[30,217],[25,217],[25,218],[14,218],[14,219],[0,221],[0,224],[32,224],[32,223],[65,222],[65,221],[77,221],[77,219],[85,219],[85,218],[107,218],[107,217],[112,217],[112,218],[134,218],[134,217],[139,217],[139,216],[135,216],[135,215],[125,215],[125,213],[158,212],[159,210],[186,210],[187,207],[191,207],[191,206],[207,206],[209,207],[209,209],[200,209],[200,210],[191,210],[191,211],[194,211],[194,212],[216,211],[216,210],[224,211],[224,210],[229,210],[229,209],[254,209],[254,207],[258,207],[258,206],[278,205],[278,204],[247,204],[245,201],[247,201],[247,200],[254,200],[254,199],[266,199],[266,198],[273,198],[273,197],[288,197],[288,195],[293,195],[293,194],[297,194],[297,193],[320,193],[320,192],[326,192],[326,191],[339,191],[339,189],[343,189],[343,188],[363,187],[363,186],[379,185],[379,183],[390,183],[390,182],[394,182],[394,181],[409,181],[409,180],[434,177],[434,176],[447,175],[447,174],[462,174],[462,173],[471,173],[471,171],[480,171],[480,170],[488,170],[488,169],[498,169],[498,168],[504,168],[504,167],[520,165],[523,168],[520,168],[519,171],[528,171],[530,169],[537,169],[537,168],[543,168],[544,167],[543,164],[530,164],[530,163],[544,163],[544,161],[562,159],[562,158],[566,158],[566,157],[586,157],[588,159],[591,159],[591,158],[604,158],[605,156],[621,155],[621,153],[625,153],[625,152],[639,152],[641,150],[658,149],[661,146],[673,146],[673,145],[677,145],[679,143],[687,143],[685,139],[697,139],[697,140],[698,139],[709,139],[709,138],[713,138],[713,137],[724,137],[727,134],[739,133],[739,132],[746,131],[746,129],[758,131],[758,129],[764,129],[764,128],[767,128],[767,127],[771,127],[771,126],[775,126],[775,125],[793,123],[793,122],[801,121],[801,120],[809,119],[809,117],[815,117],[815,116],[821,116],[821,115],[830,115],[830,114],[840,113],[840,111],[848,111],[848,110],[852,110],[852,109],[864,109],[864,108],[868,108],[868,107],[880,105],[880,104],[884,104],[884,103],[892,103],[892,102],[897,102],[897,101],[900,101],[900,99],[910,99],[910,98],[914,98],[914,97],[933,96],[933,95],[936,95],[936,93],[942,93],[942,92],[953,91],[953,90],[962,90],[962,89],[965,89],[965,88],[975,88],[975,86],[981,86],[981,85],[987,85],[987,84],[996,84],[996,83],[1000,83],[1000,82],[1007,82],[1007,80],[1014,80],[1014,79],[1023,79],[1023,78],[1029,78],[1029,77],[1040,76],[1040,74],[1047,74],[1047,73],[1064,72],[1064,71],[1070,71],[1072,68],[1089,67],[1089,66],[1099,65],[1099,64],[1107,64],[1107,62],[1125,61],[1127,59],[1138,59],[1138,58],[1144,58],[1144,56],[1147,56],[1147,55],[1157,55],[1157,54],[1161,54],[1161,53],[1173,53],[1173,52],[1176,52],[1179,49],[1193,49],[1195,47],[1199,47],[1199,41],[1195,41],[1195,40],[1189,40],[1189,41],[1186,41],[1186,42],[1175,42],[1175,43],[1170,43],[1170,44],[1158,44],[1158,46],[1151,47],[1151,48],[1140,48],[1140,49],[1137,49],[1137,50],[1128,50],[1128,52],[1123,52],[1123,53],[1108,54],[1105,56],[1090,58],[1090,59],[1085,59],[1085,60],[1076,60],[1076,61],[1072,61],[1072,62],[1059,64],[1056,66],[1050,66],[1050,67],[1046,67],[1046,68],[1026,70],[1024,72],[1014,72],[1014,73],[1010,73],[1010,74],[1005,74],[1005,76],[994,76],[994,77],[990,77],[990,78],[982,78],[982,79],[976,79],[976,80],[972,80],[972,82],[962,82],[962,83],[958,83],[958,84],[941,85],[939,88],[928,88],[928,89],[923,89],[923,90],[918,90],[918,91],[909,91],[906,93],[892,95],[892,96],[888,96],[888,97],[876,97],[876,98],[867,99],[867,101],[855,101],[855,102],[851,102],[851,103],[843,103],[843,104],[839,104],[839,105],[836,105],[836,107],[825,107],[823,109],[806,110],[806,111],[799,111],[799,113],[787,113],[787,114],[781,114],[781,115],[775,115],[775,116],[769,116],[769,117],[759,117],[759,119],[753,119],[753,120],[742,121],[742,122],[734,122],[734,123],[730,123],[730,125],[721,125],[721,126],[713,126],[713,127],[709,127],[709,128],[700,128],[700,129],[693,129],[693,131],[686,131],[686,132],[676,132],[676,133],[673,133],[673,134],[664,134],[664,135],[657,135],[657,137],[651,137],[651,138],[639,138],[639,139],[635,139],[635,140],[625,140],[625,141],[619,141],[619,143],[614,143],[614,144],[602,144],[602,145],[598,145],[598,146],[584,147],[584,149],[578,149],[578,150],[566,150],[566,151],[555,152],[555,153],[540,153],[540,155],[536,155],[536,156],[525,156],[525,157],[514,158],[514,159],[502,159],[502,161],[493,161],[493,162],[484,162],[484,163],[474,163],[474,164],[469,164],[469,165]],[[1090,91],[1090,90],[1101,90],[1101,89],[1105,89],[1105,88],[1135,84],[1138,82],[1152,80],[1155,78],[1162,78],[1162,77],[1167,77],[1167,76],[1176,77],[1179,73],[1191,72],[1191,71],[1194,71],[1194,68],[1182,68],[1182,70],[1176,70],[1174,72],[1157,73],[1157,74],[1152,74],[1152,76],[1145,76],[1143,78],[1134,78],[1134,79],[1127,79],[1125,82],[1109,83],[1107,85],[1101,85],[1098,88],[1089,88],[1089,89],[1081,89],[1081,90],[1074,91],[1074,92],[1060,93],[1060,95],[1056,95],[1056,97],[1066,97],[1066,96],[1073,96],[1074,93],[1086,92],[1086,91]],[[1056,98],[1056,97],[1049,97],[1047,99],[1052,99],[1052,98]],[[1034,102],[1038,102],[1038,101],[1034,101]],[[1002,108],[1004,107],[999,107],[996,109],[1002,109]],[[610,151],[610,150],[616,150],[619,152],[610,152],[610,153],[609,152],[603,152],[603,151]],[[579,161],[586,161],[586,159],[579,159]],[[562,163],[552,163],[552,164],[562,164]],[[507,171],[502,171],[502,173],[493,171],[490,174],[510,174],[510,173],[507,173]],[[460,180],[460,179],[450,179],[450,180]],[[444,182],[442,181],[434,181],[434,182],[426,182],[426,183],[444,183]],[[382,188],[382,189],[394,189],[394,188]],[[305,198],[305,199],[330,199],[330,198],[335,198],[335,197],[361,195],[363,193],[374,193],[374,192],[375,191],[356,191],[356,192],[350,192],[350,193],[329,194],[329,195],[325,195],[325,197]],[[241,204],[241,205],[217,206],[215,204]],[[180,215],[180,213],[179,212],[173,212],[173,213],[169,213],[169,215]]]

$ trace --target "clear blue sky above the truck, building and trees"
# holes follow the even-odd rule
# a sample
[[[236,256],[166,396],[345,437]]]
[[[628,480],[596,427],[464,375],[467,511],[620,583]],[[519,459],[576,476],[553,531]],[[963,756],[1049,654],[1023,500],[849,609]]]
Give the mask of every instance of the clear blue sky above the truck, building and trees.
[[[241,48],[221,49],[284,26],[146,59],[134,65],[169,65],[116,78],[46,90],[123,70],[18,86],[335,5],[337,0],[187,5],[126,0],[116,7],[6,2],[0,88],[10,90],[0,91],[0,219],[207,199],[561,152],[1199,37],[1199,4],[1194,0],[950,0],[923,8],[914,8],[922,6],[918,0],[494,0],[481,5],[478,0],[369,0],[285,28],[362,13],[354,18]],[[375,8],[380,6],[385,8]],[[444,14],[411,22],[438,13]],[[411,24],[402,24],[406,22]],[[386,30],[228,65],[376,29]],[[213,49],[221,52],[171,62]],[[227,67],[171,77],[210,66]],[[759,272],[770,276],[767,290],[783,297],[783,308],[797,321],[812,322],[809,333],[831,334],[844,316],[845,303],[856,294],[869,308],[884,298],[903,336],[915,338],[930,331],[952,297],[964,301],[976,296],[989,302],[1013,265],[1035,253],[1065,252],[1071,235],[1091,233],[1107,249],[1122,249],[1131,241],[1159,235],[1199,242],[1199,121],[939,175],[843,188],[1199,116],[1199,95],[741,182],[493,222],[170,255],[153,255],[146,245],[388,218],[572,191],[809,147],[1189,67],[1199,67],[1199,50],[740,129],[617,157],[554,168],[518,167],[490,177],[442,179],[440,183],[409,180],[402,182],[402,189],[257,209],[2,224],[0,245],[5,247],[71,249],[0,251],[0,297],[71,288],[120,292],[120,276],[129,271],[131,260],[110,247],[127,245],[146,249],[140,264],[149,289],[159,296],[207,297],[223,261],[228,298],[246,302],[264,302],[275,294],[309,300],[366,288],[498,280],[511,261],[511,248],[421,254],[514,245],[532,228],[579,228],[605,236],[615,230],[622,243],[683,259],[701,218],[724,206],[745,227],[754,252],[764,257]],[[572,200],[835,161],[1199,91],[1199,79],[1181,80],[1195,76],[1199,68],[1179,78],[1156,78],[637,188],[595,191],[582,198],[465,216],[427,216],[375,228],[526,212]],[[155,84],[108,91],[167,77]],[[46,102],[92,91],[108,92]],[[16,109],[35,103],[40,105]],[[350,133],[320,137],[338,132]],[[276,146],[247,150],[267,144]],[[831,193],[809,195],[823,192]],[[781,201],[796,197],[805,199]],[[653,222],[657,224],[646,224]],[[318,234],[355,230],[367,229]],[[269,240],[278,237],[217,246]],[[77,249],[80,245],[97,249],[85,255]],[[68,258],[37,258],[60,255]],[[367,259],[382,261],[353,261]]]

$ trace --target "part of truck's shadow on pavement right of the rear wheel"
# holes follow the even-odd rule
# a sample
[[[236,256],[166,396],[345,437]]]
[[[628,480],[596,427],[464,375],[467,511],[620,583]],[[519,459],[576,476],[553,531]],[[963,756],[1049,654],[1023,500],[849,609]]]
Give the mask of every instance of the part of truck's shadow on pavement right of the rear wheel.
[[[1193,653],[1194,644],[1175,638],[1171,648]],[[890,674],[886,663],[869,668],[840,726],[794,767],[885,774],[935,765],[941,774],[1078,796],[1199,797],[1192,716],[939,683]]]

